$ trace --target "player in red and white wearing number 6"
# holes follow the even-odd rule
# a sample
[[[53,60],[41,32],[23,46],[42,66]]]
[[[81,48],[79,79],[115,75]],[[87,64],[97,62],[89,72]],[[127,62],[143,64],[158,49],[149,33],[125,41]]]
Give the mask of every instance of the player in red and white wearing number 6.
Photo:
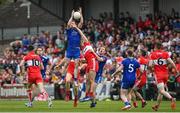
[[[157,104],[152,107],[155,111],[158,110],[163,96],[171,100],[172,109],[175,109],[176,106],[175,99],[167,91],[165,91],[164,88],[165,84],[168,81],[168,76],[169,76],[167,63],[170,63],[178,73],[177,68],[174,62],[172,61],[172,59],[170,58],[168,52],[161,50],[161,43],[156,43],[155,51],[151,52],[150,54],[150,63],[149,63],[149,66],[153,67],[155,79],[157,82],[158,93],[159,93],[157,97]]]

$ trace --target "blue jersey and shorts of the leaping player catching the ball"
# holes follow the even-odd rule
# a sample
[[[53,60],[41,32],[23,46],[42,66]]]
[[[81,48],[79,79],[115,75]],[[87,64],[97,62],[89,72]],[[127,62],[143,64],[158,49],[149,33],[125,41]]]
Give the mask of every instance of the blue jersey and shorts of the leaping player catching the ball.
[[[67,33],[67,58],[77,59],[80,57],[80,43],[81,35],[75,28],[69,28],[66,30]]]

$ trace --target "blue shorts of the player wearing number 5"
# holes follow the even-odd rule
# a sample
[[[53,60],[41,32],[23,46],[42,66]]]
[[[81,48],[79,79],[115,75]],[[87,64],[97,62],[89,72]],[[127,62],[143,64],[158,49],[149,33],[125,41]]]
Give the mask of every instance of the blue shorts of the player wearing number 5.
[[[135,81],[122,81],[120,86],[121,86],[121,89],[130,89],[130,88],[133,88],[135,84]]]

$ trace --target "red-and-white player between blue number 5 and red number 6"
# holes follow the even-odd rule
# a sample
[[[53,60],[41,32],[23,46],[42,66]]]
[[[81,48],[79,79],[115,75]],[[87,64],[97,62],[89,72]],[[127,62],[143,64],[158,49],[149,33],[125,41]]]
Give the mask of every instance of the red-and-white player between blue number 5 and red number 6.
[[[142,89],[142,87],[146,85],[146,80],[147,80],[146,74],[147,74],[147,65],[149,63],[149,59],[146,56],[145,50],[141,49],[139,51],[138,62],[140,64],[140,69],[137,70],[137,80],[136,80],[136,83],[133,87],[133,91],[135,93],[135,98],[137,96],[141,100],[142,108],[144,108],[147,103],[144,100],[144,98],[141,96],[141,94],[138,92],[138,90]],[[141,73],[140,70],[142,70],[143,72]],[[135,98],[134,98],[133,105],[134,105],[134,107],[137,107],[137,102],[136,102]]]

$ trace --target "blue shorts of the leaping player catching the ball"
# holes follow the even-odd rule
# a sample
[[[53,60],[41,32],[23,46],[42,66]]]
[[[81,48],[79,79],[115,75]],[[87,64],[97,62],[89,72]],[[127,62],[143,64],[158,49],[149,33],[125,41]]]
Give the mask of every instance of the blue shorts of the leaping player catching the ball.
[[[80,58],[80,49],[76,50],[67,50],[66,58],[68,59],[78,59]]]

